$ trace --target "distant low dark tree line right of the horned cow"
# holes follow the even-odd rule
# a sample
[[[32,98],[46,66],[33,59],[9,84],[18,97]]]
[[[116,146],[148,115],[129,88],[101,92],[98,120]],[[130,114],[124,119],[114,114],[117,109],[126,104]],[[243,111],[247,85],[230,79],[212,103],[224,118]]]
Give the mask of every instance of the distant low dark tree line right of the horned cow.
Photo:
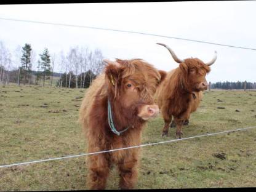
[[[212,89],[244,89],[244,84],[246,83],[246,89],[256,89],[256,82],[215,82],[211,84]]]

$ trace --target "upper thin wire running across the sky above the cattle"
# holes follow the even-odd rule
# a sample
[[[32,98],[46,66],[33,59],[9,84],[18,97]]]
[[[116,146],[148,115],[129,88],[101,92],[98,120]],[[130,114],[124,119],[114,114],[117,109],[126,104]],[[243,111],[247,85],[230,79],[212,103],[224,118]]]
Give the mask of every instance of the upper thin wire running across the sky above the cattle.
[[[38,22],[38,21],[20,20],[20,19],[14,19],[14,18],[2,18],[2,17],[0,17],[0,19],[1,20],[10,20],[10,21],[15,21],[15,22],[40,23],[40,24],[47,24],[47,25],[60,25],[60,26],[71,26],[71,27],[78,27],[78,28],[89,28],[89,29],[94,29],[94,30],[116,31],[116,32],[122,32],[122,33],[145,34],[145,35],[157,36],[157,37],[161,37],[161,38],[172,38],[172,39],[179,39],[179,40],[183,40],[183,41],[192,41],[192,42],[200,42],[200,43],[205,43],[205,44],[213,44],[215,46],[225,46],[225,47],[234,47],[234,48],[238,48],[238,49],[256,50],[256,49],[250,48],[250,47],[230,46],[230,45],[219,44],[219,43],[215,43],[215,42],[207,42],[207,41],[199,41],[199,40],[193,40],[193,39],[177,38],[177,37],[173,37],[173,36],[165,36],[165,35],[161,35],[161,34],[152,34],[152,33],[143,33],[143,32],[138,32],[138,31],[114,30],[114,29],[110,29],[110,28],[100,28],[100,27],[94,27],[94,26],[70,25],[70,24],[51,23],[51,22]]]

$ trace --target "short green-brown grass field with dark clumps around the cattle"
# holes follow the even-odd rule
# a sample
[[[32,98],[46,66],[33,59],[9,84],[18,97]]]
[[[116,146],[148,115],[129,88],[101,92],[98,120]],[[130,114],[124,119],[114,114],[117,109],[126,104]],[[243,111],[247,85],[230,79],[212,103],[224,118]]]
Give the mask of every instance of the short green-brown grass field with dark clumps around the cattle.
[[[0,87],[0,166],[85,153],[78,124],[84,89]],[[224,107],[224,109],[218,109]],[[236,111],[238,110],[238,111]],[[161,116],[148,122],[142,143],[162,138]],[[256,92],[205,92],[183,137],[256,126]],[[141,149],[136,188],[256,186],[256,128]],[[85,157],[0,168],[0,191],[87,190]],[[118,189],[114,167],[107,189]]]

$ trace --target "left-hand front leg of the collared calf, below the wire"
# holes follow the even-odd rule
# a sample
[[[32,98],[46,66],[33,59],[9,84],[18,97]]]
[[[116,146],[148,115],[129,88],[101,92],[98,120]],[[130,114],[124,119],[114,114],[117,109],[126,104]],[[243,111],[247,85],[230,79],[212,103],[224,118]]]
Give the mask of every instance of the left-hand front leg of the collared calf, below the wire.
[[[105,154],[89,156],[87,163],[89,164],[87,184],[90,190],[104,190],[110,172],[110,162],[106,159]]]

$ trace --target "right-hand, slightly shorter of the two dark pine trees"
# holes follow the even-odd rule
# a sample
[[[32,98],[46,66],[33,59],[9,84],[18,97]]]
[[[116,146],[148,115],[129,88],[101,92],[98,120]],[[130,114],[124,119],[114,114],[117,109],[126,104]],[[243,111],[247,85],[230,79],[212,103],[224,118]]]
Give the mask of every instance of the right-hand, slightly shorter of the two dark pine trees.
[[[49,76],[51,74],[51,67],[50,67],[50,54],[49,50],[47,48],[44,49],[44,52],[42,54],[39,54],[41,57],[41,71],[43,76],[43,85],[46,80],[46,76]]]

